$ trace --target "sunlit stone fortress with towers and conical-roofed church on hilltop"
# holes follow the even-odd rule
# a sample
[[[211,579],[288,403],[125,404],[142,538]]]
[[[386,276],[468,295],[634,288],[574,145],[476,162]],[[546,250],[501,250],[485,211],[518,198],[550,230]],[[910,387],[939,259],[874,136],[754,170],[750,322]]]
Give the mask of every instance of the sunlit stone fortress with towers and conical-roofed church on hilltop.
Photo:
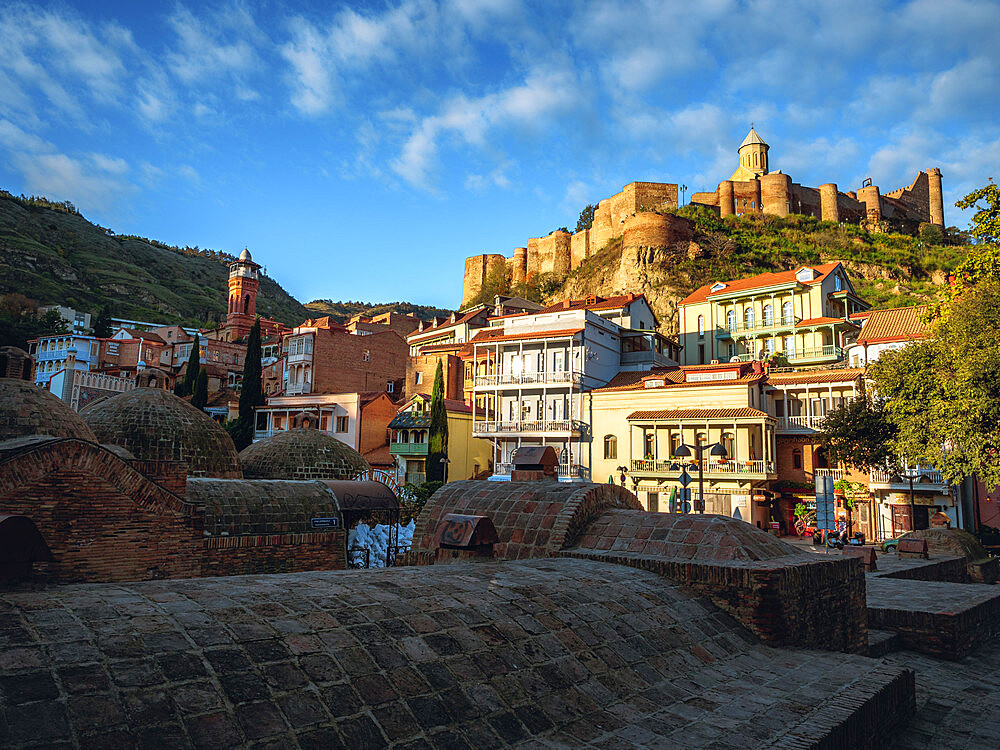
[[[692,193],[691,204],[708,206],[720,216],[804,214],[862,224],[878,231],[896,229],[915,233],[922,223],[944,227],[941,170],[937,167],[920,172],[909,186],[885,194],[870,179],[856,191],[842,193],[832,182],[818,188],[806,187],[780,170],[771,171],[769,148],[751,128],[738,149],[739,165],[733,175],[720,182],[714,192]],[[598,203],[590,229],[533,237],[527,247],[515,248],[509,258],[496,253],[466,258],[462,302],[466,304],[475,298],[487,277],[498,268],[506,267],[512,284],[536,274],[560,279],[619,237],[626,253],[687,243],[693,236],[691,222],[655,213],[659,209],[677,208],[677,197],[675,183],[631,182],[621,192]]]

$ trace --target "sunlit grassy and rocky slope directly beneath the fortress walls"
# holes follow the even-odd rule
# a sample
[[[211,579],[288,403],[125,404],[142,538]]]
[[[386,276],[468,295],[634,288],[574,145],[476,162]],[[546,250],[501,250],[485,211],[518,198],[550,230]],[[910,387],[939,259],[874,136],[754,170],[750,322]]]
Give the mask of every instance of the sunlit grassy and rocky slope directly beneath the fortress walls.
[[[841,261],[862,299],[875,307],[903,307],[934,300],[968,252],[968,233],[954,227],[942,231],[925,225],[918,236],[910,236],[869,232],[809,216],[722,219],[696,206],[668,212],[694,222],[693,242],[668,249],[642,248],[626,256],[619,237],[565,279],[537,275],[513,287],[501,268],[486,279],[477,301],[508,293],[539,302],[643,293],[663,330],[675,333],[677,303],[714,281]]]

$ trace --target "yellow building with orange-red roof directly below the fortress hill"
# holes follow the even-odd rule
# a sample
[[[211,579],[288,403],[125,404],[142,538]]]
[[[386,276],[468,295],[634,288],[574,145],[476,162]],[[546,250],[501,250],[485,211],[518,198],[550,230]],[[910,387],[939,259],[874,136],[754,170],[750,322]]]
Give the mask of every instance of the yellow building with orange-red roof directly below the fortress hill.
[[[837,262],[706,284],[678,304],[682,364],[766,359],[794,366],[843,359],[851,316],[870,305]]]

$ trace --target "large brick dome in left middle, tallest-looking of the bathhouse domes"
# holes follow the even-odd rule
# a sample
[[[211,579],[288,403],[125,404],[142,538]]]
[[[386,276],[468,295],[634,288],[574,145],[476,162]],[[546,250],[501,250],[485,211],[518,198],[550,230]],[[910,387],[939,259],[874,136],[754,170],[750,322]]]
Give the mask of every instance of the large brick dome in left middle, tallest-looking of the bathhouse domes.
[[[88,406],[84,422],[101,443],[140,461],[185,461],[193,477],[239,479],[232,438],[200,409],[162,388],[135,388]]]

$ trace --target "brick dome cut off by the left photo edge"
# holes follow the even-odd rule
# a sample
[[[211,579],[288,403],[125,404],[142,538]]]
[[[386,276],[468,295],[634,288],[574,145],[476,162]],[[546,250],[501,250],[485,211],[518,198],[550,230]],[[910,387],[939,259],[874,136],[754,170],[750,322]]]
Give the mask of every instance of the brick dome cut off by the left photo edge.
[[[80,415],[61,398],[27,380],[0,378],[0,440],[27,435],[97,442]]]

